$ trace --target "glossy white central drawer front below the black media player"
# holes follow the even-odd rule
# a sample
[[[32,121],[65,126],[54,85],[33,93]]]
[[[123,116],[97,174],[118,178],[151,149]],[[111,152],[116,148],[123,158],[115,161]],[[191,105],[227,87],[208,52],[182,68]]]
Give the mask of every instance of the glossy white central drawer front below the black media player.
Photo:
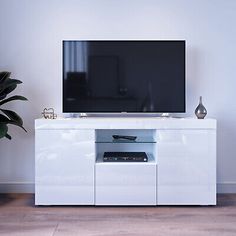
[[[96,205],[156,205],[156,165],[96,165]]]

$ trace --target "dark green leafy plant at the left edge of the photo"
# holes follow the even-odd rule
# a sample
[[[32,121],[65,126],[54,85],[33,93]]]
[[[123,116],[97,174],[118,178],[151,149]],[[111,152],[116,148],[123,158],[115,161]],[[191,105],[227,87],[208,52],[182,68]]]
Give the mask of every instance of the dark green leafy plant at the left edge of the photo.
[[[0,72],[0,139],[4,137],[11,139],[11,136],[8,134],[9,124],[19,126],[26,131],[23,127],[23,120],[16,112],[2,108],[2,105],[10,101],[27,100],[27,98],[19,95],[7,98],[8,94],[15,90],[18,84],[22,83],[20,80],[11,79],[10,75],[11,73],[7,71]]]

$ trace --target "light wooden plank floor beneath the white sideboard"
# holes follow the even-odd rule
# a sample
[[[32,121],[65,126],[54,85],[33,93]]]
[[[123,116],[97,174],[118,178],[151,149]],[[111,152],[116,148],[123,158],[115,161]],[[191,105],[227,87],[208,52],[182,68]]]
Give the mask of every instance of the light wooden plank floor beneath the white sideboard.
[[[32,194],[2,194],[0,235],[236,236],[236,194],[211,207],[35,207]]]

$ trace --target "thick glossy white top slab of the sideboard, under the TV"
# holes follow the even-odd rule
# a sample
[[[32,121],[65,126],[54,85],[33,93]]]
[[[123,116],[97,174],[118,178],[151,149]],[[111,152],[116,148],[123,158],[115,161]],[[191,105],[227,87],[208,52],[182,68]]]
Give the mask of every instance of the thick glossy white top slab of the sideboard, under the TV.
[[[215,119],[86,117],[36,119],[35,129],[216,129]]]

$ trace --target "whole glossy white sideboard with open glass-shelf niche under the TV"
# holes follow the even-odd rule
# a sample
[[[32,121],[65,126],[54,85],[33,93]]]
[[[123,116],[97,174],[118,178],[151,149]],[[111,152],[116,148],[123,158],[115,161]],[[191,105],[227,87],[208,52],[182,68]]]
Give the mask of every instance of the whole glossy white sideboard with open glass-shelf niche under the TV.
[[[216,204],[214,119],[37,119],[35,129],[36,205]],[[105,151],[144,151],[149,161],[107,163]]]

